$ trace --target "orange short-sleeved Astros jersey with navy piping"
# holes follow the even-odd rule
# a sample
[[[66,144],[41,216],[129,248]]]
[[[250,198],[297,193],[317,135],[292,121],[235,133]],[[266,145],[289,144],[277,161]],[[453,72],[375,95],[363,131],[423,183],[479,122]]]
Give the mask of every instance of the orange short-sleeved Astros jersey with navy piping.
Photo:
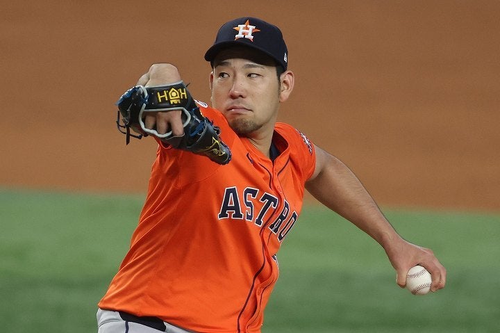
[[[160,143],[130,250],[99,307],[196,332],[260,332],[278,279],[276,252],[315,170],[314,146],[277,123],[273,163],[221,113],[201,111],[221,129],[231,162]]]

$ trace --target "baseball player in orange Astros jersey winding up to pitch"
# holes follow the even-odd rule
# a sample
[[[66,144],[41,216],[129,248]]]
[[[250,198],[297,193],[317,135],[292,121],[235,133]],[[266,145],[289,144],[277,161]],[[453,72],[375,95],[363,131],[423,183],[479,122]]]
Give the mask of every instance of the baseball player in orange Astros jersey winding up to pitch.
[[[152,136],[158,152],[130,249],[99,302],[99,333],[260,332],[305,188],[381,244],[397,284],[419,263],[433,291],[444,287],[431,250],[404,241],[341,161],[276,122],[294,88],[280,29],[234,19],[205,59],[211,107],[170,64],[151,66],[117,103],[127,140]]]

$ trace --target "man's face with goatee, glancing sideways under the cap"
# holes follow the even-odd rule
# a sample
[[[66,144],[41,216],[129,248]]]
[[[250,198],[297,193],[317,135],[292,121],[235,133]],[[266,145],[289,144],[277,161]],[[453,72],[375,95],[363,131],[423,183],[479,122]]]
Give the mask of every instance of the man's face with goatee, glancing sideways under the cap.
[[[248,50],[221,51],[210,86],[213,107],[238,135],[258,137],[274,129],[281,91],[274,63],[249,56]]]

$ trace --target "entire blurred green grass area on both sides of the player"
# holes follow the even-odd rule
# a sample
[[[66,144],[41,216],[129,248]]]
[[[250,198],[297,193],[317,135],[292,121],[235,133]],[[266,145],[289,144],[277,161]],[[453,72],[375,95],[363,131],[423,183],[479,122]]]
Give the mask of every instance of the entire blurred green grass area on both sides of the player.
[[[96,304],[128,247],[142,196],[0,190],[2,332],[97,332]],[[500,332],[500,216],[386,210],[431,247],[447,288],[399,289],[385,253],[335,213],[304,209],[278,254],[264,333]]]

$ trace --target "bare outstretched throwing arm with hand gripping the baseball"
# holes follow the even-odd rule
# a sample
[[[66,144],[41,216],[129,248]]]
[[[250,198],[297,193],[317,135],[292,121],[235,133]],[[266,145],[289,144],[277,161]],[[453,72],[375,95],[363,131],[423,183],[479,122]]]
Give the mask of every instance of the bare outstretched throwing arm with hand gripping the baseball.
[[[306,182],[307,190],[319,202],[352,222],[383,247],[397,272],[399,286],[406,285],[408,270],[420,264],[432,275],[431,291],[442,289],[446,283],[446,269],[433,252],[409,243],[397,234],[347,165],[317,146],[315,152],[315,172]]]

